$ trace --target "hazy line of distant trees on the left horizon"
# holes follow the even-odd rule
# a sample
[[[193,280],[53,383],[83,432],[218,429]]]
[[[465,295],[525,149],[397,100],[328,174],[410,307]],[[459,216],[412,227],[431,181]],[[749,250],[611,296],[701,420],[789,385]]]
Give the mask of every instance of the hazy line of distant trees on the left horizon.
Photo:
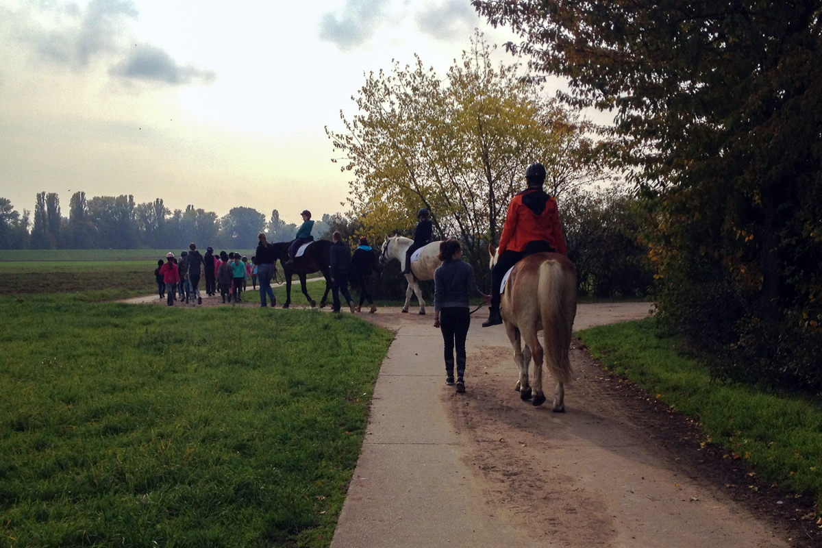
[[[34,219],[31,212],[16,211],[11,200],[0,197],[0,249],[165,249],[198,246],[247,249],[262,231],[270,242],[294,237],[297,225],[270,217],[249,207],[232,208],[218,217],[193,205],[169,210],[161,198],[137,204],[132,195],[94,196],[75,192],[68,216],[62,215],[56,192],[39,192]],[[323,214],[316,219],[315,237],[325,235],[339,215]]]

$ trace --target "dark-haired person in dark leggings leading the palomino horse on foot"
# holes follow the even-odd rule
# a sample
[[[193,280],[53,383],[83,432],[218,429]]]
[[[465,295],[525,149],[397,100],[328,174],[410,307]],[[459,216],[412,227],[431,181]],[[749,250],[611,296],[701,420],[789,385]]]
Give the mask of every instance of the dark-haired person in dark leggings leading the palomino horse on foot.
[[[456,240],[440,244],[442,265],[434,272],[434,327],[442,331],[445,341],[446,385],[454,385],[454,350],[456,348],[457,392],[465,392],[465,338],[471,325],[469,297],[477,294],[490,302],[491,297],[477,288],[473,268],[462,260],[462,246]]]

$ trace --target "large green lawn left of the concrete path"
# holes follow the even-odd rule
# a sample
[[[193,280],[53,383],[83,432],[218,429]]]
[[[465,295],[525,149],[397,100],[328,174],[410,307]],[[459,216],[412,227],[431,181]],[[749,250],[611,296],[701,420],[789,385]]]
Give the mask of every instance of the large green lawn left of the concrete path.
[[[328,546],[391,334],[98,298],[0,298],[3,545]]]

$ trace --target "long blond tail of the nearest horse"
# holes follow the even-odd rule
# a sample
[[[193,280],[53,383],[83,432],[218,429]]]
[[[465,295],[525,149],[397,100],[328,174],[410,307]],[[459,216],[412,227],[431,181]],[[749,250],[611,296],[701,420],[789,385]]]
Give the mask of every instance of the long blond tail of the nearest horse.
[[[576,316],[576,269],[570,260],[548,259],[539,266],[539,313],[545,362],[558,383],[570,382],[570,339]]]

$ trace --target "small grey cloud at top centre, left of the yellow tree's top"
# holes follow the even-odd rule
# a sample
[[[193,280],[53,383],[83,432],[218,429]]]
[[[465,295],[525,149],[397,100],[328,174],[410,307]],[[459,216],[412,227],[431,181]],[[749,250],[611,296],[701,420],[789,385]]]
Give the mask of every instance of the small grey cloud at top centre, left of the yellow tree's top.
[[[365,44],[385,21],[390,0],[346,0],[341,17],[326,13],[320,20],[320,39],[351,51]]]

